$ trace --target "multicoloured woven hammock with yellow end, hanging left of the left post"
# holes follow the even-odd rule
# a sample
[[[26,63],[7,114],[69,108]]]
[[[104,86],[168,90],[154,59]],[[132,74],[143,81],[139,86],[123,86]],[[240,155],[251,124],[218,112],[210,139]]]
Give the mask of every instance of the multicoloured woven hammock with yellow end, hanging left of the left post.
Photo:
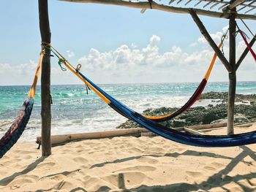
[[[20,138],[21,134],[23,134],[24,129],[26,128],[27,123],[29,122],[29,118],[31,112],[33,110],[34,104],[34,96],[36,93],[37,87],[37,79],[39,77],[41,65],[42,65],[43,53],[40,54],[39,64],[37,66],[37,72],[34,76],[34,82],[31,85],[28,96],[26,97],[23,103],[23,110],[20,111],[20,115],[15,119],[12,123],[12,126],[7,130],[3,137],[0,139],[0,158],[7,153],[10,148],[15,145],[15,143]]]

